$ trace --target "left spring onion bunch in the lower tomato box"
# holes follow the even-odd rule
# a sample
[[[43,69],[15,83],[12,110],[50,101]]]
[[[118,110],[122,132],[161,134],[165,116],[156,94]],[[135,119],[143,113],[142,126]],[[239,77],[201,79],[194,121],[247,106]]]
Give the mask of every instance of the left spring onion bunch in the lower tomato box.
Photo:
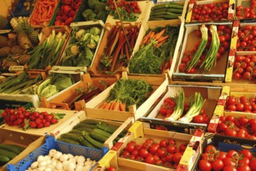
[[[183,114],[185,95],[183,89],[175,96],[176,106],[171,116],[166,117],[165,120],[173,121],[178,120]]]

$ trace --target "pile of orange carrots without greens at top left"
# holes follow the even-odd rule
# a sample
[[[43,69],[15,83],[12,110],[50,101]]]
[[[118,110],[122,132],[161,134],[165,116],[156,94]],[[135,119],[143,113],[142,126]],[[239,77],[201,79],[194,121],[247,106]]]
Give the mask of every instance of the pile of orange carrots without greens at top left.
[[[38,0],[30,16],[30,24],[48,25],[58,4],[59,0]]]

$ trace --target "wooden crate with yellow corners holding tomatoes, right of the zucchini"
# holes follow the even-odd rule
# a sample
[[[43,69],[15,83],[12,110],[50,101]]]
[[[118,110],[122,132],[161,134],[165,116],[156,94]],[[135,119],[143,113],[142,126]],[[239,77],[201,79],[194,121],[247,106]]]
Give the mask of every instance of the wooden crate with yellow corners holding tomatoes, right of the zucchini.
[[[198,155],[201,152],[201,144],[204,137],[204,132],[197,130],[194,135],[181,134],[172,131],[159,131],[152,130],[149,127],[144,127],[144,124],[140,121],[136,121],[129,129],[130,132],[126,134],[125,138],[119,140],[116,145],[99,161],[99,170],[104,170],[108,166],[118,166],[123,170],[174,170],[162,166],[155,166],[145,162],[138,162],[130,159],[123,159],[120,157],[121,152],[126,145],[135,140],[137,144],[142,144],[146,138],[153,138],[155,141],[160,141],[164,138],[173,138],[176,141],[176,145],[181,143],[188,143],[183,157],[180,160],[179,166],[176,170],[194,170],[195,163],[198,160]]]

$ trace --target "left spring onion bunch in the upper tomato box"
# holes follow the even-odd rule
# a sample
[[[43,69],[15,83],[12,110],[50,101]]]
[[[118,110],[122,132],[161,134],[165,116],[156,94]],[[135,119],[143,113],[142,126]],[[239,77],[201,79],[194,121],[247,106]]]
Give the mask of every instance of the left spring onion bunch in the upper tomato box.
[[[197,51],[195,52],[193,58],[188,62],[187,70],[190,71],[191,68],[194,68],[197,65],[197,61],[201,57],[201,54],[204,51],[204,48],[206,47],[207,41],[208,41],[208,28],[203,24],[200,27],[201,30],[201,42],[197,48]]]

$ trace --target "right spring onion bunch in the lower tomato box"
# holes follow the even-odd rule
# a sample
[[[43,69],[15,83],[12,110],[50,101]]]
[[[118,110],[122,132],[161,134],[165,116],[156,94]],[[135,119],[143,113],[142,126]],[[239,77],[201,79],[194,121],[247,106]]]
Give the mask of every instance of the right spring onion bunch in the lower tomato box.
[[[204,106],[205,99],[201,96],[200,92],[195,92],[194,102],[190,106],[190,109],[187,111],[186,115],[180,118],[180,121],[184,123],[189,123],[193,117],[197,116],[200,113],[202,106]]]

